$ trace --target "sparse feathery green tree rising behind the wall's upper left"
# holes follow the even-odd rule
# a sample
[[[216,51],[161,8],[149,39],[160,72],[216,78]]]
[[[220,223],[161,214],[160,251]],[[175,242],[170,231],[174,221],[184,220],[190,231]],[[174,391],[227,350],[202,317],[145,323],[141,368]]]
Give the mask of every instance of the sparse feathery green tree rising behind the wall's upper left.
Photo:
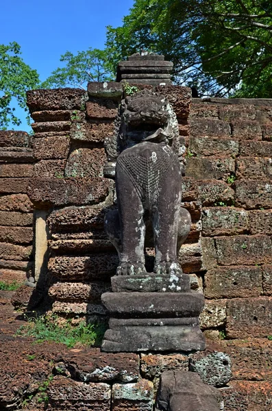
[[[66,65],[53,71],[42,83],[42,88],[72,86],[85,90],[88,82],[107,82],[113,78],[104,50],[90,47],[76,55],[66,51],[60,56],[60,61]]]

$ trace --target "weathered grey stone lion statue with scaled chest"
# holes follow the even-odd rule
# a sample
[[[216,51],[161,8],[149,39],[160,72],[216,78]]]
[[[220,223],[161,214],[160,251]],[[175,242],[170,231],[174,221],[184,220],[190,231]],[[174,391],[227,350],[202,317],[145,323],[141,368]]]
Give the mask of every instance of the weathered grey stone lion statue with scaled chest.
[[[117,275],[141,275],[145,245],[153,240],[154,273],[182,273],[177,252],[190,230],[181,208],[179,129],[164,95],[142,90],[122,100],[108,155],[116,158],[118,210],[106,214],[108,237],[119,253]]]

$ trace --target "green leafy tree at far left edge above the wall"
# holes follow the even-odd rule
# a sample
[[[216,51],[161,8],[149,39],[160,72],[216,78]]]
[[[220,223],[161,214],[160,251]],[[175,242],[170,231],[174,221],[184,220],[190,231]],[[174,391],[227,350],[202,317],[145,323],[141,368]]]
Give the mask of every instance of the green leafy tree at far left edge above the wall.
[[[16,42],[0,45],[0,129],[21,124],[12,106],[14,100],[28,113],[25,92],[39,84],[37,71],[25,64],[20,54]]]

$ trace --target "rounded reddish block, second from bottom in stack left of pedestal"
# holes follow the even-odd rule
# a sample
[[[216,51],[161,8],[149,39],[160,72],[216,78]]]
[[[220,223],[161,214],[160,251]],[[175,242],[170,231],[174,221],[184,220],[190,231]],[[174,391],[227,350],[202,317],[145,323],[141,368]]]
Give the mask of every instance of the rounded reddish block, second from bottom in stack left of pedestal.
[[[49,288],[49,295],[58,301],[99,303],[101,294],[111,290],[110,283],[55,283]]]

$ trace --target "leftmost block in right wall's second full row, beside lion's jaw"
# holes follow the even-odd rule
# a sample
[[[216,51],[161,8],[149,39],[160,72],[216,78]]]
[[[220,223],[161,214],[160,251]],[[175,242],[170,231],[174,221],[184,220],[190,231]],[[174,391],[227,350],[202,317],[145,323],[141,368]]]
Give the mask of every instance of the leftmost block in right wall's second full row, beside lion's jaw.
[[[222,120],[190,119],[190,135],[195,137],[229,137],[230,125]]]

